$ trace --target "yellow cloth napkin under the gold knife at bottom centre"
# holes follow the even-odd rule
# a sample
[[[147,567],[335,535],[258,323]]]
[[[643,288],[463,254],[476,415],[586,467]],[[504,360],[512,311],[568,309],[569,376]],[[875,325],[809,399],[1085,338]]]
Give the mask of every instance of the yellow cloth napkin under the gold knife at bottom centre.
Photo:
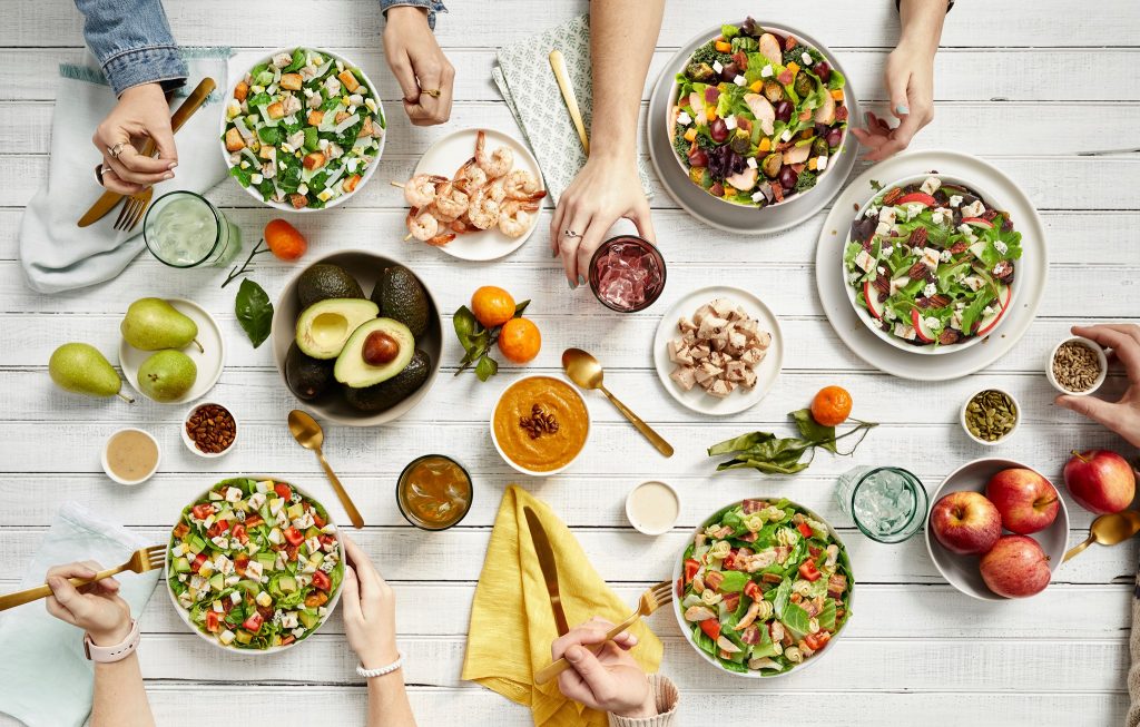
[[[538,727],[602,727],[605,714],[567,700],[556,679],[534,685],[534,673],[551,662],[551,642],[557,629],[522,510],[527,505],[538,515],[554,549],[562,607],[570,627],[595,615],[617,623],[633,611],[632,604],[622,603],[606,587],[551,508],[512,484],[503,493],[471,605],[463,678],[529,706]],[[661,642],[642,621],[630,631],[640,640],[630,654],[646,672],[657,671]]]

